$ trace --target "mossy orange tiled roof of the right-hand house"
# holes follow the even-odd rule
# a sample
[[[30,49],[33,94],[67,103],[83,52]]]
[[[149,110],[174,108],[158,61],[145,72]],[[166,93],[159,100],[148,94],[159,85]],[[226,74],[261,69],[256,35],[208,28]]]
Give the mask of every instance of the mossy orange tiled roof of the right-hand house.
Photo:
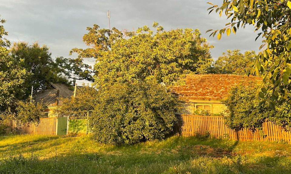
[[[172,89],[185,101],[222,100],[235,85],[249,82],[262,82],[261,77],[239,76],[233,74],[193,74],[185,78],[186,85]]]

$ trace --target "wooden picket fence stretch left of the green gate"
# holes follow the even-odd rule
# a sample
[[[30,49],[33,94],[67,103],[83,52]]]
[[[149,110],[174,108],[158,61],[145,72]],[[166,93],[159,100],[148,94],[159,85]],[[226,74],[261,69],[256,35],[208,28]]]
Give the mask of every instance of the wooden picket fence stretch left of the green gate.
[[[56,135],[58,118],[40,118],[39,123],[17,124],[15,120],[7,122],[7,133]]]

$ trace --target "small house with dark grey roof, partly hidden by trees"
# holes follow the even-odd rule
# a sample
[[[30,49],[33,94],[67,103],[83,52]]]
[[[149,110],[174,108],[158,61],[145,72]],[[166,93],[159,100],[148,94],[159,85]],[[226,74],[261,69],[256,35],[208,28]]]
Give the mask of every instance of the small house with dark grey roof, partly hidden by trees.
[[[33,99],[35,102],[42,102],[47,107],[45,113],[48,117],[52,117],[54,109],[62,105],[61,98],[70,98],[74,95],[74,86],[75,84],[50,83],[45,90],[35,93]],[[82,86],[77,86],[80,87]]]

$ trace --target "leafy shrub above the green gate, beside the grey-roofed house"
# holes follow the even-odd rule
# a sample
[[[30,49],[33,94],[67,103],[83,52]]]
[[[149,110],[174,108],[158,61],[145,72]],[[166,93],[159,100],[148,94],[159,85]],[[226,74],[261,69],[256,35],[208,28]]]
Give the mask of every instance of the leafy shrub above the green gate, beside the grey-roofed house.
[[[55,109],[58,116],[68,116],[74,111],[94,110],[98,98],[98,91],[90,88],[89,85],[77,88],[75,98],[60,98],[62,105]]]

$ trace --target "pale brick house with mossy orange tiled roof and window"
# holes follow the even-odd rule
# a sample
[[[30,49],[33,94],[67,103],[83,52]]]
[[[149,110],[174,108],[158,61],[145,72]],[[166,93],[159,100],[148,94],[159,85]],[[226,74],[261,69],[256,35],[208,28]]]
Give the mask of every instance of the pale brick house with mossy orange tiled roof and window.
[[[185,81],[185,85],[176,86],[173,90],[187,102],[189,114],[195,114],[198,109],[219,114],[226,108],[222,100],[229,95],[232,87],[240,83],[260,83],[262,78],[233,74],[192,74],[187,75]]]

